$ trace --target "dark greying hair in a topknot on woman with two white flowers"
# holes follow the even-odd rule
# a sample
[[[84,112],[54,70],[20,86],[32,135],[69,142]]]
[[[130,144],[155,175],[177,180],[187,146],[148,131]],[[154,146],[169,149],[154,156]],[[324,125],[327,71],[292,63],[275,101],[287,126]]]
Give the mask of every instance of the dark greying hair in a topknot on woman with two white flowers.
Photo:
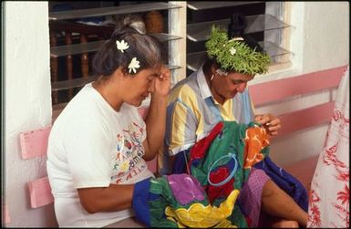
[[[117,68],[129,72],[133,57],[139,61],[137,73],[146,68],[157,68],[163,63],[164,52],[160,41],[145,34],[145,26],[139,17],[125,16],[116,24],[111,38],[99,48],[92,61],[94,74],[110,76]],[[128,48],[123,52],[117,48],[116,41],[124,40]]]

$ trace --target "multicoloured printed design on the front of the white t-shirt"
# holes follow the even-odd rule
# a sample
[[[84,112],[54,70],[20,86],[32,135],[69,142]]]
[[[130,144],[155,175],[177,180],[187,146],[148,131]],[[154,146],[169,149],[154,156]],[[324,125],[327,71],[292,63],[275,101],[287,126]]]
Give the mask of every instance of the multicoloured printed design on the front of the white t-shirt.
[[[114,183],[127,182],[147,168],[145,163],[140,163],[144,155],[142,137],[145,130],[132,122],[122,131],[117,134],[117,151],[111,177]]]

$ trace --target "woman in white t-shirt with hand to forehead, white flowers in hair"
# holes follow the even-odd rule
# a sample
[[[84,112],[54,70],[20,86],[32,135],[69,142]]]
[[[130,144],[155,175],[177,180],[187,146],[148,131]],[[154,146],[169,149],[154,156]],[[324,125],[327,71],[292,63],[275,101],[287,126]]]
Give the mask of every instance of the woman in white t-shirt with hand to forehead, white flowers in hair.
[[[165,131],[170,71],[160,43],[124,20],[98,50],[87,84],[51,130],[47,173],[59,226],[102,227],[129,218],[135,183],[153,176],[146,162]],[[136,107],[151,94],[146,120]]]

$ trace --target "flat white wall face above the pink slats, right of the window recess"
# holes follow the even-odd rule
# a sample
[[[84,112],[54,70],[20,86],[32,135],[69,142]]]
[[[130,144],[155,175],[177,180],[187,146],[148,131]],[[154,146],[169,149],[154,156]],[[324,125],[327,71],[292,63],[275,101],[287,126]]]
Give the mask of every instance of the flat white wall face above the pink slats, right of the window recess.
[[[349,9],[348,2],[305,3],[303,72],[349,63]]]

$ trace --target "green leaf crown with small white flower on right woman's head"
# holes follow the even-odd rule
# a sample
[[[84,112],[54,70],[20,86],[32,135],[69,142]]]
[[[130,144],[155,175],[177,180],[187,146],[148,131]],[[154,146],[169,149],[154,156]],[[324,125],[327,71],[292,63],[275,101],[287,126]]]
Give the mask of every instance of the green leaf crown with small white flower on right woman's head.
[[[212,26],[211,36],[205,47],[208,56],[214,58],[223,70],[248,75],[268,72],[271,60],[267,54],[256,52],[256,47],[248,47],[235,38],[229,40],[227,32],[216,26]]]

